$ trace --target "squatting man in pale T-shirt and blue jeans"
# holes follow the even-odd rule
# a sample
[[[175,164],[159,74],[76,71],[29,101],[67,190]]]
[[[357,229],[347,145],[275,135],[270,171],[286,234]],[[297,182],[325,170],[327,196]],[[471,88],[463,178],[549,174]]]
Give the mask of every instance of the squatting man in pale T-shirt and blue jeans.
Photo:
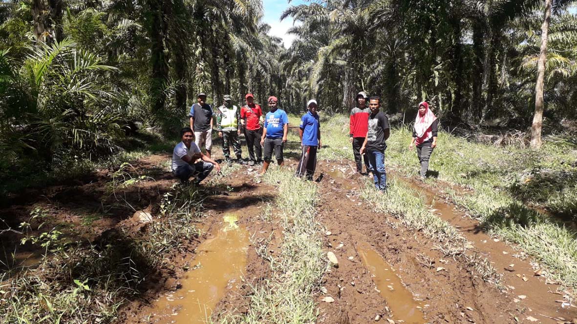
[[[211,173],[213,168],[220,172],[220,165],[210,157],[200,152],[194,143],[194,133],[190,127],[181,130],[182,141],[173,150],[173,173],[182,183],[188,183],[190,176],[194,176],[194,184],[200,183]],[[200,159],[201,161],[197,160]]]

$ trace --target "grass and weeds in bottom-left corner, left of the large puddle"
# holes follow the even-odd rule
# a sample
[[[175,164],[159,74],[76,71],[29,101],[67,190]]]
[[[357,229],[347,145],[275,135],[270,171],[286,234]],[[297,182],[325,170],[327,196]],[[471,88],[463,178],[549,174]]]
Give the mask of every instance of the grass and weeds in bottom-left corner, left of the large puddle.
[[[36,268],[0,275],[0,322],[109,322],[144,289],[147,276],[166,266],[167,255],[198,235],[192,223],[200,217],[201,197],[194,187],[175,184],[155,221],[137,232],[109,229],[94,242],[69,242],[57,228],[27,235],[25,240],[50,248],[50,254]],[[34,210],[32,217],[42,217],[42,211]]]

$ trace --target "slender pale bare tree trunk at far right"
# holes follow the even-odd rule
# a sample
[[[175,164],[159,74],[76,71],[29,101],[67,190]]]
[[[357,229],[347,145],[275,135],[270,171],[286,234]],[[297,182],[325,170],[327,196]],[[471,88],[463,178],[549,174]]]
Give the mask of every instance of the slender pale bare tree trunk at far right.
[[[551,20],[552,0],[545,0],[545,18],[541,25],[541,50],[537,62],[537,84],[535,84],[535,114],[531,125],[531,148],[541,148],[541,130],[543,126],[543,84],[545,80],[545,62],[547,60],[547,34]]]

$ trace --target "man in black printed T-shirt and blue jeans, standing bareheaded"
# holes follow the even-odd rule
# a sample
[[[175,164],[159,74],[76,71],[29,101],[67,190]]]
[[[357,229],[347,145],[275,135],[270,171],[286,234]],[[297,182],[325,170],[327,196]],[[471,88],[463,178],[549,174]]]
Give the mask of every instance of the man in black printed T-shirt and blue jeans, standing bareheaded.
[[[379,111],[381,99],[370,97],[369,99],[369,130],[366,133],[365,142],[361,147],[361,154],[367,153],[370,167],[373,169],[374,186],[380,191],[387,190],[387,172],[385,171],[385,149],[387,138],[391,134],[387,115]]]

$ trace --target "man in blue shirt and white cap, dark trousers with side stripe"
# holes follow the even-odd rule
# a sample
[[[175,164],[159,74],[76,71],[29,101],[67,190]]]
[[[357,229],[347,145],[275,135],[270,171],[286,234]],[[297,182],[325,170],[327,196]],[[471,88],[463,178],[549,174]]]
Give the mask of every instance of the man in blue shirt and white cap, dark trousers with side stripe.
[[[314,169],[317,167],[317,149],[321,148],[321,128],[319,114],[317,114],[317,101],[310,99],[306,104],[309,110],[301,118],[301,160],[297,167],[297,176],[306,174],[306,179],[312,180]]]

